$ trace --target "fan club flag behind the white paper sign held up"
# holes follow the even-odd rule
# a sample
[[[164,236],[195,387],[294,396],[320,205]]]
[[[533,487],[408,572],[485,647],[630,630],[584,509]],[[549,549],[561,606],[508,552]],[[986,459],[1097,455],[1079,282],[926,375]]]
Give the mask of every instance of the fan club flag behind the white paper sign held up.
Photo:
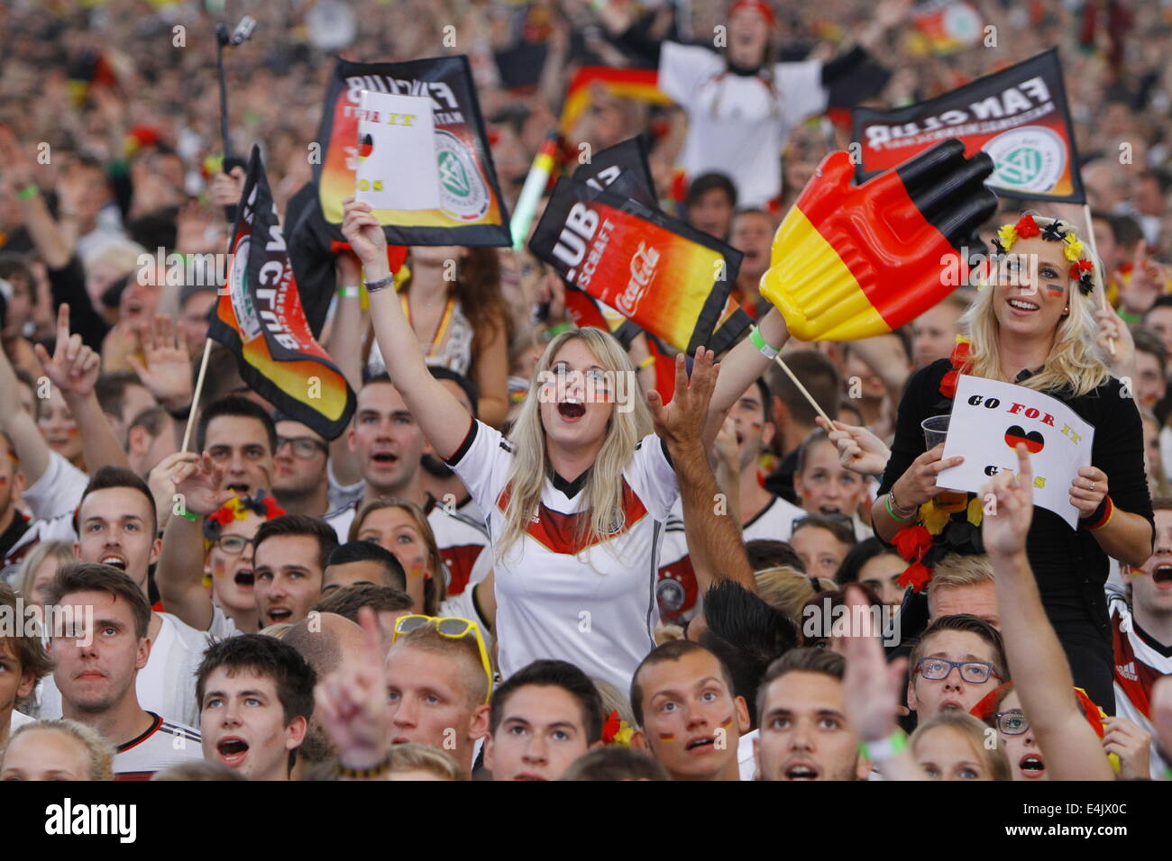
[[[342,200],[354,194],[359,165],[359,117],[363,90],[431,101],[438,205],[380,210],[394,245],[510,245],[509,214],[489,153],[484,119],[468,57],[432,57],[403,63],[339,60],[326,93],[318,139],[321,163],[314,182],[321,211],[342,239]]]

